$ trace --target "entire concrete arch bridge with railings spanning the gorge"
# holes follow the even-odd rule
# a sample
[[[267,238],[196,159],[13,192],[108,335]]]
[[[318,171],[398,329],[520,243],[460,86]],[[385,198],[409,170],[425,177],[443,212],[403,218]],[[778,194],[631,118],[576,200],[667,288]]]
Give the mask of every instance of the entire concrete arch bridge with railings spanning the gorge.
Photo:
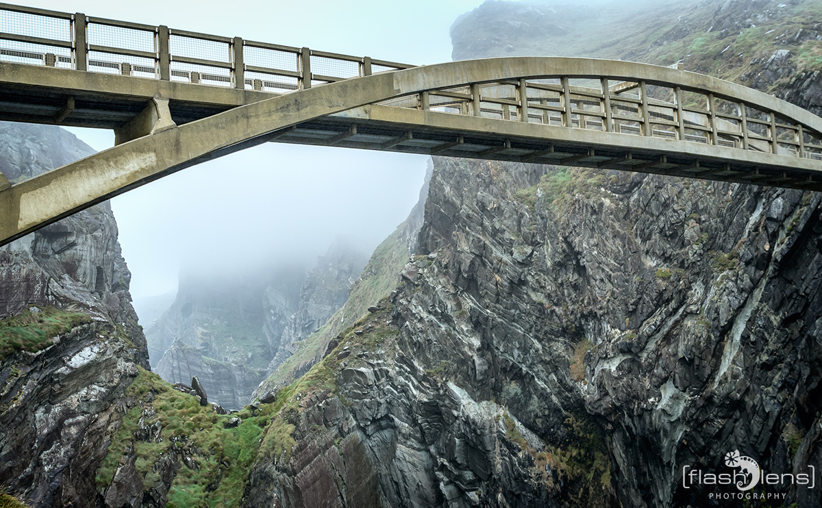
[[[0,120],[116,145],[0,178],[0,245],[267,141],[822,190],[822,118],[679,68],[584,58],[412,67],[0,4]]]

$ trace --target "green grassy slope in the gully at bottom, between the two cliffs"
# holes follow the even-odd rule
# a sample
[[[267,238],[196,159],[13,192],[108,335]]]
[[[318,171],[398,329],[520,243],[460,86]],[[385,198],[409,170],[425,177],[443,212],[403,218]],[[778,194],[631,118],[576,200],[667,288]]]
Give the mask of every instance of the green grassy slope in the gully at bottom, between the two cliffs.
[[[99,490],[109,487],[118,468],[129,460],[134,460],[136,473],[148,490],[161,481],[164,472],[158,464],[171,456],[177,471],[167,506],[239,506],[261,436],[271,420],[271,404],[261,404],[257,411],[247,408],[220,415],[142,368],[126,397],[136,405],[123,415],[100,464]],[[238,426],[226,427],[235,416],[241,418]],[[151,431],[157,422],[159,436]]]

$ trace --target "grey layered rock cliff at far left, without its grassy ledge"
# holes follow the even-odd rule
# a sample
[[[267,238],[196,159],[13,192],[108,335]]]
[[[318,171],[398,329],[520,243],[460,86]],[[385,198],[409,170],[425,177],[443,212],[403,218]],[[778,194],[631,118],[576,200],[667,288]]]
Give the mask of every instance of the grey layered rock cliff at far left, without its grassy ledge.
[[[58,127],[0,122],[0,153],[19,182],[93,150]],[[148,367],[117,236],[104,203],[0,248],[0,318],[49,306],[91,318],[0,362],[0,483],[34,506],[94,498],[118,401],[136,365]]]

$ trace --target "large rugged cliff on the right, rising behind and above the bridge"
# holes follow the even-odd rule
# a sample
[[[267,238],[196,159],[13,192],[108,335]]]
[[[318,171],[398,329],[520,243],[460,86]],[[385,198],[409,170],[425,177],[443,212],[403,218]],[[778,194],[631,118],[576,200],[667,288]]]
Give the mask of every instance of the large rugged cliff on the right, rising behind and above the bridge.
[[[818,112],[818,9],[676,4],[617,24],[644,30],[630,46],[587,43]],[[797,478],[822,467],[820,212],[811,192],[435,159],[403,284],[279,392],[246,506],[819,506]],[[740,455],[784,475],[769,497],[716,483]]]

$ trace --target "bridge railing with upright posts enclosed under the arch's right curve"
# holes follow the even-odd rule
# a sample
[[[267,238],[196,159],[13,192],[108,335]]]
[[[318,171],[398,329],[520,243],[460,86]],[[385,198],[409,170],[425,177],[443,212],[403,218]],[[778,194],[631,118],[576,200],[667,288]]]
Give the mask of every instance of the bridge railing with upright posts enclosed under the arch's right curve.
[[[778,112],[677,83],[556,76],[427,90],[382,104],[822,160],[822,133]]]

